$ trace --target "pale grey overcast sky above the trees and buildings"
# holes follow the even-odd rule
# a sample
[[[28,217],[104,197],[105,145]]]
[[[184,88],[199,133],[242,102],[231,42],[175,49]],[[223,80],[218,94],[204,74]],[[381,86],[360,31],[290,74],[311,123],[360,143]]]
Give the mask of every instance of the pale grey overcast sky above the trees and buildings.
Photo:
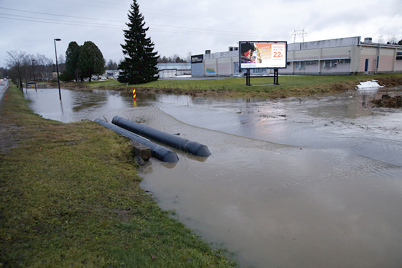
[[[71,41],[92,41],[106,61],[123,53],[132,0],[0,0],[0,67],[7,51],[45,55],[55,62]],[[138,0],[148,36],[161,56],[186,58],[228,51],[238,41],[288,43],[361,36],[402,39],[401,0]],[[304,36],[301,35],[304,29]],[[297,35],[293,35],[296,31]]]

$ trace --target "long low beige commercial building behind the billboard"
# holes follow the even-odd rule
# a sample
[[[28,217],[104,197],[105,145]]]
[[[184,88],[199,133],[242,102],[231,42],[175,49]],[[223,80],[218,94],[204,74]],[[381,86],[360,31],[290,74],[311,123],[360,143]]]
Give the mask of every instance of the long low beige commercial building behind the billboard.
[[[372,43],[371,38],[349,37],[287,44],[287,67],[282,75],[402,73],[402,46]],[[191,56],[192,76],[239,75],[239,51]],[[244,70],[243,70],[244,71]],[[273,69],[252,69],[252,75]]]

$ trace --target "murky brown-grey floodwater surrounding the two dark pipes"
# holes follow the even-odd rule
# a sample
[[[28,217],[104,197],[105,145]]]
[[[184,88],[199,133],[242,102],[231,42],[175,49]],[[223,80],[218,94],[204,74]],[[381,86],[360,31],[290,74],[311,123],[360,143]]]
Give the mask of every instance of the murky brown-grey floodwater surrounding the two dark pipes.
[[[277,100],[61,93],[26,95],[45,118],[119,115],[206,145],[207,158],[170,148],[178,163],[151,159],[141,184],[241,266],[402,266],[402,110],[369,102],[402,88]]]

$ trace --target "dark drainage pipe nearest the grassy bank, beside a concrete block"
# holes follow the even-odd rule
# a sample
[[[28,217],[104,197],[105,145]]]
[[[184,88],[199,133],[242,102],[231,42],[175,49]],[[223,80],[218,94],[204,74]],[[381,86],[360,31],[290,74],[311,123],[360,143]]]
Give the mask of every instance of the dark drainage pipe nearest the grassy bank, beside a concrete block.
[[[160,161],[168,162],[168,163],[176,163],[177,161],[179,161],[177,154],[175,152],[167,149],[166,147],[153,143],[148,139],[138,136],[135,133],[132,133],[126,129],[123,129],[123,128],[121,128],[115,124],[109,123],[105,120],[97,118],[94,120],[94,122],[101,124],[109,129],[112,129],[113,131],[115,131],[133,141],[136,141],[140,144],[148,146],[149,148],[151,148],[151,155],[154,158],[159,159]]]

